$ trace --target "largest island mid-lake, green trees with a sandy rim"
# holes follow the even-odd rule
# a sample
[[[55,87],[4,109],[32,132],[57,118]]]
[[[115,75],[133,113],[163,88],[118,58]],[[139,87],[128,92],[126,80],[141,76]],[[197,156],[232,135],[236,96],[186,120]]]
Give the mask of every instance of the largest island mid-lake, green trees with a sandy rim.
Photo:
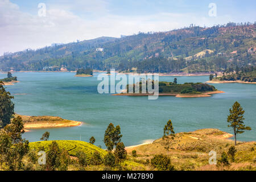
[[[147,82],[146,82],[147,84]],[[152,81],[154,86],[154,80]],[[127,93],[123,93],[126,92]],[[129,85],[122,93],[113,94],[114,96],[151,96],[150,93],[142,93],[142,82],[139,82],[139,93],[135,93],[135,85],[133,85],[133,93],[129,93]],[[175,97],[210,97],[211,94],[224,93],[217,90],[214,86],[205,83],[185,82],[184,84],[177,84],[177,79],[174,82],[159,81],[159,96],[175,96]]]

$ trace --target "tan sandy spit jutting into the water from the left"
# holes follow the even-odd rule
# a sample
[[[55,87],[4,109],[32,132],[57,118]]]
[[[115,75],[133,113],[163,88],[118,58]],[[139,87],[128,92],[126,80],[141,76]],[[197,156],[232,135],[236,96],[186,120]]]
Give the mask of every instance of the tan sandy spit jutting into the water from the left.
[[[16,115],[18,116],[19,114]],[[26,132],[30,131],[31,129],[80,126],[83,123],[81,121],[73,121],[53,116],[19,116],[22,117]]]

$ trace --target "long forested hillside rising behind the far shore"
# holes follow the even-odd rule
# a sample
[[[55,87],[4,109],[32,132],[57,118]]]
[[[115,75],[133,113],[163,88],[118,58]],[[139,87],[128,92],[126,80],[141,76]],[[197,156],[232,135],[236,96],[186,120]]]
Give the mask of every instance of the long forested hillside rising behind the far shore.
[[[189,26],[168,32],[139,32],[123,38],[27,49],[0,57],[2,71],[216,72],[256,64],[256,23]]]

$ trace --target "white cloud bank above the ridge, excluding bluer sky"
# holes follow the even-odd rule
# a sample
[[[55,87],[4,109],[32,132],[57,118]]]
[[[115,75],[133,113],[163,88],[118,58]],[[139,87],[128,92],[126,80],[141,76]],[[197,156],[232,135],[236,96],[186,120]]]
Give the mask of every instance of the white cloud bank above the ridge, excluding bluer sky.
[[[76,4],[76,5],[75,5]],[[37,7],[36,7],[37,8]],[[88,18],[72,13],[82,11]],[[0,0],[0,55],[3,52],[40,48],[51,43],[69,43],[100,36],[131,35],[139,31],[168,31],[198,24],[226,23],[229,17],[198,17],[194,14],[159,13],[144,16],[112,15],[103,0],[60,1],[47,5],[46,17],[20,11],[10,1]],[[214,20],[214,21],[213,21]]]

